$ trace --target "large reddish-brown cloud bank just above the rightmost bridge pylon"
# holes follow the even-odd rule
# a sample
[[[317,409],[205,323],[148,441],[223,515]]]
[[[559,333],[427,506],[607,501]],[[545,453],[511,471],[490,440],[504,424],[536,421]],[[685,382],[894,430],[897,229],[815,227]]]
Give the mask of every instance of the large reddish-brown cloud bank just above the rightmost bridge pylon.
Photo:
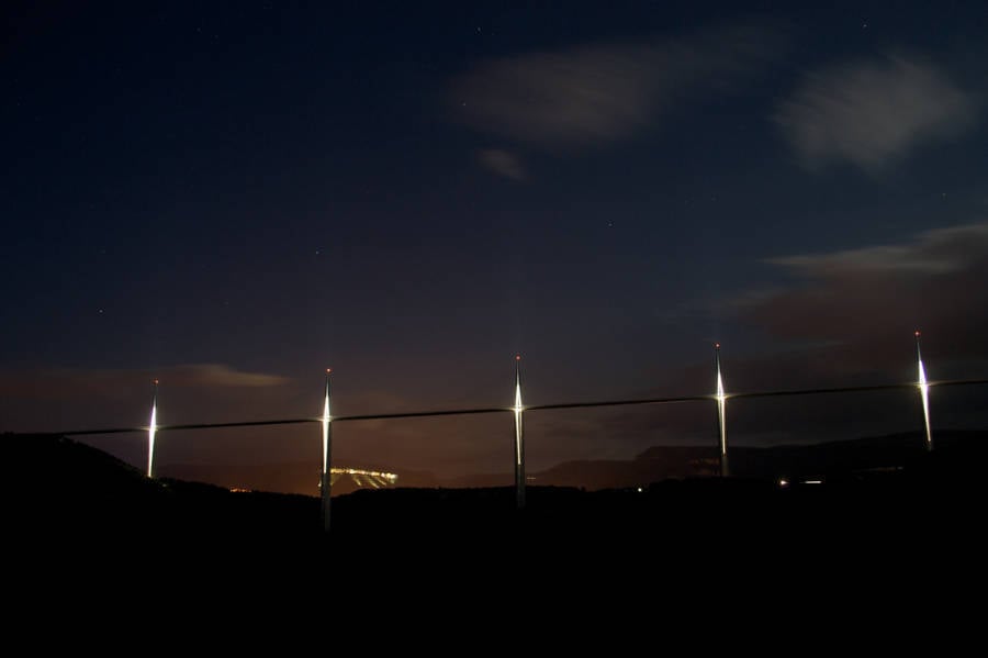
[[[969,366],[988,358],[988,222],[767,263],[799,280],[744,300],[738,312],[783,344],[827,345],[826,358],[806,357],[807,377],[900,371],[892,368],[907,363],[902,349],[914,328],[935,336],[943,357]]]

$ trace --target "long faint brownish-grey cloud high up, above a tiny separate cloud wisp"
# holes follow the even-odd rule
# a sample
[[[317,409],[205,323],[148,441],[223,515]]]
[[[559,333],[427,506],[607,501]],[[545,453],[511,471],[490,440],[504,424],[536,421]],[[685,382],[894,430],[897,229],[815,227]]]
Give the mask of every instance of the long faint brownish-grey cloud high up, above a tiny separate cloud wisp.
[[[762,26],[687,38],[591,44],[484,63],[454,80],[459,118],[486,133],[544,148],[607,143],[652,124],[697,92],[722,90],[774,55]]]

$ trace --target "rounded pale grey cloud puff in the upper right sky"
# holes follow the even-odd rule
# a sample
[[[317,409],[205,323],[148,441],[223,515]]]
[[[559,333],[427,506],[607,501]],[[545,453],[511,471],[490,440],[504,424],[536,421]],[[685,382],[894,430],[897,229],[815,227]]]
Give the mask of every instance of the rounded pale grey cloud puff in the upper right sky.
[[[808,167],[846,160],[876,174],[927,142],[963,133],[975,109],[931,64],[886,57],[808,74],[775,121]]]

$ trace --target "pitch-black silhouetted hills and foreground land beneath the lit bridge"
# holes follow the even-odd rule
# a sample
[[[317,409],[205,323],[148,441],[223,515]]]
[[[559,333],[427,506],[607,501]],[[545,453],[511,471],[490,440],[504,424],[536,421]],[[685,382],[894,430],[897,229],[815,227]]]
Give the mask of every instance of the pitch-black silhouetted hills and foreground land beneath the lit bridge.
[[[479,650],[515,628],[571,653],[587,637],[678,646],[742,618],[819,646],[955,624],[985,581],[983,442],[823,484],[530,487],[520,512],[509,488],[361,490],[334,499],[326,536],[314,498],[149,480],[64,437],[0,438],[8,627],[75,623],[98,646],[142,626],[155,646],[202,633],[279,654],[314,633],[402,648],[473,629]]]

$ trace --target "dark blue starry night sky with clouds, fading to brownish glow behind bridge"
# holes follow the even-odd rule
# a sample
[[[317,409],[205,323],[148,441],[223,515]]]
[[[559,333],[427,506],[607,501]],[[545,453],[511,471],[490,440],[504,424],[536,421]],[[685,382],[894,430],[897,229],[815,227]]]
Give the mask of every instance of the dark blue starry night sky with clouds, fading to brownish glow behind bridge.
[[[146,424],[154,378],[165,424],[314,416],[327,366],[335,414],[507,406],[516,353],[529,403],[703,394],[715,341],[729,392],[896,383],[918,327],[931,379],[988,376],[988,5],[777,4],[5,7],[0,431]],[[934,430],[985,394],[934,389]],[[728,413],[736,445],[921,426],[911,392]],[[715,414],[532,413],[529,470]],[[508,482],[512,426],[341,423],[335,456]],[[158,460],[314,492],[318,436]]]

